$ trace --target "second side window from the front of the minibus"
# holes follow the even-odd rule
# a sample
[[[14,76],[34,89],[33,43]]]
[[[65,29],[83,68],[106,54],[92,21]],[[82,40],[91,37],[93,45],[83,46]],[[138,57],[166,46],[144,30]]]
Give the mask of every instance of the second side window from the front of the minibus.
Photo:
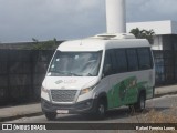
[[[115,55],[117,60],[117,72],[127,72],[127,59],[126,59],[126,51],[125,49],[117,49],[115,50]]]

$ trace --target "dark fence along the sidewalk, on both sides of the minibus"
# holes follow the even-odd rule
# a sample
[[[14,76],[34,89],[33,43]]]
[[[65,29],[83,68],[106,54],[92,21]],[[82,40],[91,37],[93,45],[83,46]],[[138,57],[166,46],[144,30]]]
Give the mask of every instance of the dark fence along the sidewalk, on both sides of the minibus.
[[[54,51],[0,50],[0,105],[40,100]],[[177,83],[177,51],[154,51],[156,85]]]

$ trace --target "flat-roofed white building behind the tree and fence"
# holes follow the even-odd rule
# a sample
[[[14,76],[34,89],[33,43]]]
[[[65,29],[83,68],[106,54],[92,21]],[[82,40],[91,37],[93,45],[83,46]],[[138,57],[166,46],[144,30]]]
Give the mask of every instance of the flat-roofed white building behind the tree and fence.
[[[127,32],[132,29],[150,30],[155,32],[154,50],[177,50],[177,22],[176,21],[149,21],[127,23]]]

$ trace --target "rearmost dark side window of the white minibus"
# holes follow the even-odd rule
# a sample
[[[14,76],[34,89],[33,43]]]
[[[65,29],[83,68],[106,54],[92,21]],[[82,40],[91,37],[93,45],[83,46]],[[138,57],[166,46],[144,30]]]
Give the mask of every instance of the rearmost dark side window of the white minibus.
[[[139,48],[137,49],[138,60],[139,60],[139,70],[152,69],[152,55],[149,48]]]

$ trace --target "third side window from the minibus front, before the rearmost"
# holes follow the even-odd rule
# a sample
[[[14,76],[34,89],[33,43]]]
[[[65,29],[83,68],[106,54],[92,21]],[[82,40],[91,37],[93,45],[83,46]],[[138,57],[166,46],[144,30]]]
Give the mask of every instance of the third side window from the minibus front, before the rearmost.
[[[128,71],[137,71],[138,70],[138,60],[135,49],[127,49],[127,61],[128,61]]]

